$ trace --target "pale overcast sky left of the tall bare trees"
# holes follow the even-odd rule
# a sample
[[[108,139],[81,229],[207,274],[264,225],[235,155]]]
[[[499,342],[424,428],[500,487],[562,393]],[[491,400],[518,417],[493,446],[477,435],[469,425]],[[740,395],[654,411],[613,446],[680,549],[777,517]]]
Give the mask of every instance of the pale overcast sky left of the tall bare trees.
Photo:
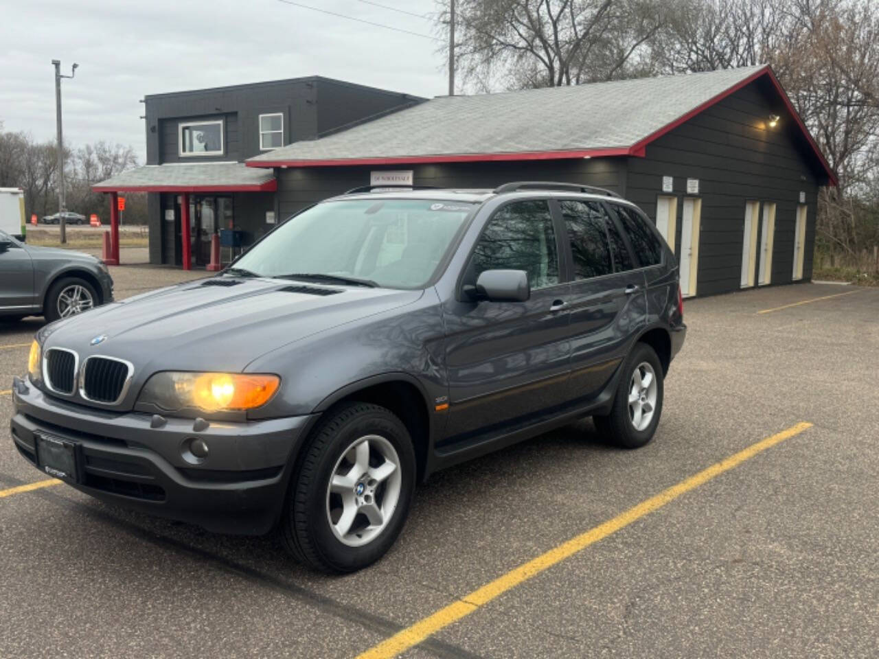
[[[433,0],[376,0],[435,11]],[[296,0],[434,35],[432,21],[361,0]],[[105,140],[146,155],[145,94],[319,75],[432,97],[447,91],[439,42],[279,0],[0,0],[0,122],[54,139],[53,59],[64,141]]]

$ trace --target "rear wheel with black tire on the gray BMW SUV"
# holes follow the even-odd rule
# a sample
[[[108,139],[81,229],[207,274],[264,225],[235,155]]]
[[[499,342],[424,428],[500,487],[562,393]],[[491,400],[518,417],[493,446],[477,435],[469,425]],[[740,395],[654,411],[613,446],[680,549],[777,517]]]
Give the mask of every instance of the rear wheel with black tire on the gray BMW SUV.
[[[657,353],[647,344],[635,344],[622,366],[610,413],[592,416],[592,421],[599,433],[621,448],[640,448],[656,433],[663,396]]]

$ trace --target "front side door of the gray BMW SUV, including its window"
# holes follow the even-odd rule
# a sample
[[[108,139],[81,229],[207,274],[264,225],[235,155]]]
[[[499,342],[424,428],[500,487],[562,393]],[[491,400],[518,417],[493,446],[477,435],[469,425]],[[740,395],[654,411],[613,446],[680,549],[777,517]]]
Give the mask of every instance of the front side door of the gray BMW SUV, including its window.
[[[534,424],[535,415],[564,402],[570,284],[564,283],[560,248],[546,200],[512,202],[490,219],[464,282],[476,283],[485,270],[524,270],[531,298],[445,306],[450,407],[439,447]]]

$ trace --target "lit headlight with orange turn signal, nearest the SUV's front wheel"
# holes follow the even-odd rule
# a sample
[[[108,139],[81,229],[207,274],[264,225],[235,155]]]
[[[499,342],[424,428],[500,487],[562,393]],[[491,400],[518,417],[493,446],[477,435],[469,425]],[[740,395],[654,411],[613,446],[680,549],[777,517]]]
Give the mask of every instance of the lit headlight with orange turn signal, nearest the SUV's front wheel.
[[[254,409],[269,402],[279,386],[277,375],[165,371],[149,378],[137,402],[169,412],[186,408],[209,412]]]

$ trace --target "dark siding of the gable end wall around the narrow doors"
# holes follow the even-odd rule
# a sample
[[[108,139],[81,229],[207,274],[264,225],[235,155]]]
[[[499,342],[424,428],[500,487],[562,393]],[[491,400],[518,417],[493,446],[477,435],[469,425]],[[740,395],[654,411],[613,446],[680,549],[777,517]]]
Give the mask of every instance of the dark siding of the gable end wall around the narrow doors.
[[[766,127],[770,114],[779,126]],[[803,280],[811,278],[818,181],[815,158],[781,102],[758,81],[689,119],[647,147],[646,157],[628,158],[625,196],[656,221],[662,177],[674,177],[679,198],[676,249],[680,245],[681,199],[686,179],[699,179],[701,231],[697,295],[739,290],[747,201],[776,206],[772,283],[792,280],[796,208],[805,192],[809,208]],[[762,213],[761,219],[762,223]],[[759,231],[758,263],[759,268]],[[759,271],[758,271],[759,272]]]

